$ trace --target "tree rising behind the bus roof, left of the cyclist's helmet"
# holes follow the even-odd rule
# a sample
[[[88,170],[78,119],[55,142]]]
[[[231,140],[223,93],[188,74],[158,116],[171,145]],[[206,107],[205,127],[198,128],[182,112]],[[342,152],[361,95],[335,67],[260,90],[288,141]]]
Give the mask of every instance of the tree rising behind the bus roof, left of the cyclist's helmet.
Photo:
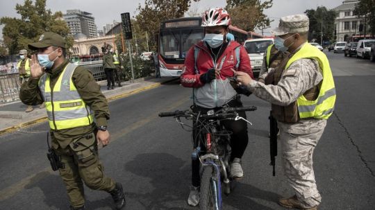
[[[160,23],[167,19],[183,17],[190,8],[192,1],[199,0],[145,0],[144,6],[138,6],[139,14],[135,17],[140,28],[140,34],[148,33],[151,49],[156,49],[155,34]],[[144,38],[145,39],[145,38]]]

